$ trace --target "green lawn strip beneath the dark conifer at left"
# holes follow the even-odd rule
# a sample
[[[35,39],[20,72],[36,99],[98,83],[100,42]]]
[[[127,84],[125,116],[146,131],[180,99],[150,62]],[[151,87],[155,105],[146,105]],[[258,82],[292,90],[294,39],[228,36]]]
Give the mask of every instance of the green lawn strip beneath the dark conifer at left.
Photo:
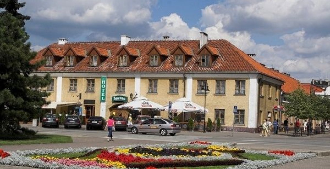
[[[36,134],[29,139],[0,139],[0,145],[72,143],[70,136]]]

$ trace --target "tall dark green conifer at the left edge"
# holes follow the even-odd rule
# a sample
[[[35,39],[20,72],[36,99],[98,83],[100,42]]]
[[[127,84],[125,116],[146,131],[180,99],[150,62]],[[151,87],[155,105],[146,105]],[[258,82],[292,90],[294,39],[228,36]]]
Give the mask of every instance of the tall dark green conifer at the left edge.
[[[43,62],[30,63],[35,52],[30,52],[29,36],[23,27],[29,17],[17,12],[25,3],[0,0],[0,133],[19,133],[19,121],[41,114],[43,97],[39,90],[50,83],[50,76],[31,75]]]

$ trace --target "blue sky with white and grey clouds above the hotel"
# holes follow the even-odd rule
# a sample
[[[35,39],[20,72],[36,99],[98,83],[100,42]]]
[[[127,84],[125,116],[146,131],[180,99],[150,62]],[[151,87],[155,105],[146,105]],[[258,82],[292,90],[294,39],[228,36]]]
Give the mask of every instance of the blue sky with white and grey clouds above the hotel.
[[[304,83],[330,78],[328,0],[20,0],[32,49],[58,38],[226,39]]]

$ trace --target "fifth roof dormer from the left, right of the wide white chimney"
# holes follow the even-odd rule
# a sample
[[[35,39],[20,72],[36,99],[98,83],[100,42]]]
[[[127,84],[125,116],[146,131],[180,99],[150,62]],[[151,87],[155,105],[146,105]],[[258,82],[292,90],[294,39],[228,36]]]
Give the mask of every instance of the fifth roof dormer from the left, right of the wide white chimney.
[[[170,51],[160,46],[153,46],[147,55],[149,56],[149,66],[158,67],[168,56],[170,56]]]

